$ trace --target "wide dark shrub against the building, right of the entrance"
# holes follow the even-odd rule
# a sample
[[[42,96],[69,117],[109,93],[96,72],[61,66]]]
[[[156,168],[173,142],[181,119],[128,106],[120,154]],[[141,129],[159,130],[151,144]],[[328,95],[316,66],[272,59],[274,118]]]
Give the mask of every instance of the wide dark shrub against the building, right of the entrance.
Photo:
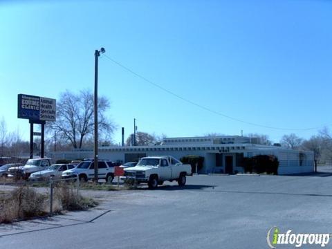
[[[261,174],[278,174],[279,161],[273,155],[258,155],[251,158],[243,158],[244,172]]]

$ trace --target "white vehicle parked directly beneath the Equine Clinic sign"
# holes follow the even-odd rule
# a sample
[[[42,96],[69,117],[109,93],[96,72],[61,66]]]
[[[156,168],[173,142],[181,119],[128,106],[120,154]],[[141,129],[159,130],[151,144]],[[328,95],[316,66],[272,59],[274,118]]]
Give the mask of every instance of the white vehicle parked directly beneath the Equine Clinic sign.
[[[42,171],[50,167],[50,158],[29,159],[24,166],[10,167],[8,176],[28,179],[30,174]]]

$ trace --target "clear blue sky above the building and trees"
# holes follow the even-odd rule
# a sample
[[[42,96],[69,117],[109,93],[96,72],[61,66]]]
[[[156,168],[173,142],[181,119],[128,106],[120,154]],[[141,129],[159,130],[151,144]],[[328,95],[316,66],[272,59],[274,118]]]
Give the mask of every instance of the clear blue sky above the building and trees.
[[[264,133],[278,142],[332,125],[332,1],[2,1],[0,118],[28,140],[17,94],[59,98],[99,90],[121,140],[133,130],[167,136]],[[303,130],[317,127],[316,129]],[[294,129],[294,130],[291,130]]]

